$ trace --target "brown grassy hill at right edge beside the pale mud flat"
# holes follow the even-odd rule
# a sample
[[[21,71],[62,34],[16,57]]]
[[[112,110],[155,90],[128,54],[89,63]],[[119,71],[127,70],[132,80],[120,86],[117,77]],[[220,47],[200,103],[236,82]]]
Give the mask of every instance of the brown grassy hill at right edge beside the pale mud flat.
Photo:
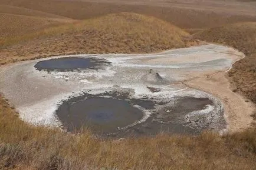
[[[229,76],[237,89],[256,103],[256,22],[219,26],[194,37],[232,46],[247,55],[233,65]]]

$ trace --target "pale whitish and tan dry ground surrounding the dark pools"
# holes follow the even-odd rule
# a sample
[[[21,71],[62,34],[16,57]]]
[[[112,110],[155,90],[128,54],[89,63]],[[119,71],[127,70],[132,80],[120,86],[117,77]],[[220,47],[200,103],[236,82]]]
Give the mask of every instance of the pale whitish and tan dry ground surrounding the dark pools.
[[[81,91],[100,94],[113,89],[133,89],[134,98],[210,98],[214,105],[208,114],[213,112],[214,114],[209,115],[214,115],[216,119],[217,111],[222,108],[219,103],[221,99],[228,130],[231,132],[248,128],[252,122],[250,115],[254,106],[232,92],[224,76],[224,72],[232,63],[244,56],[232,48],[210,44],[174,49],[159,54],[73,56],[104,58],[111,62],[111,66],[104,66],[97,71],[49,74],[34,68],[38,61],[46,60],[38,59],[6,66],[0,70],[0,91],[15,105],[22,119],[34,124],[43,122],[46,125],[60,126],[55,110],[63,99],[79,95]],[[54,58],[60,57],[64,56]],[[168,84],[162,83],[162,78],[158,75],[148,74],[149,69],[159,73]],[[182,84],[183,82],[188,86]],[[161,91],[152,93],[147,89],[148,86],[160,88]]]

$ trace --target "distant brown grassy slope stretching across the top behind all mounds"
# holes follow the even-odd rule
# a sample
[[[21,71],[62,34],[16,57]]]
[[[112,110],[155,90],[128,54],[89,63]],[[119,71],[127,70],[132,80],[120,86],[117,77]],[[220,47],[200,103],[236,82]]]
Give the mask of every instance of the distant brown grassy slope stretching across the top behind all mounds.
[[[2,0],[0,4],[19,6],[73,19],[88,19],[107,14],[133,12],[155,16],[180,28],[211,28],[223,24],[256,21],[256,16],[229,15],[194,9],[182,9],[147,5],[120,5],[96,2],[68,2],[52,0]],[[225,10],[222,10],[225,12]]]

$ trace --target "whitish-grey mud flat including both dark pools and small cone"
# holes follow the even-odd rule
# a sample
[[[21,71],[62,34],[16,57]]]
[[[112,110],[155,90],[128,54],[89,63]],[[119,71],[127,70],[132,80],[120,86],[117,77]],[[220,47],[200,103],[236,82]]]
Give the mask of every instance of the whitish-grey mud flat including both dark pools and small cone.
[[[107,136],[223,131],[236,125],[227,115],[238,109],[218,91],[188,82],[225,72],[243,56],[213,44],[159,54],[55,56],[2,68],[0,91],[24,121],[67,131],[88,127]],[[248,116],[252,109],[245,111]],[[242,120],[245,127],[251,122]]]

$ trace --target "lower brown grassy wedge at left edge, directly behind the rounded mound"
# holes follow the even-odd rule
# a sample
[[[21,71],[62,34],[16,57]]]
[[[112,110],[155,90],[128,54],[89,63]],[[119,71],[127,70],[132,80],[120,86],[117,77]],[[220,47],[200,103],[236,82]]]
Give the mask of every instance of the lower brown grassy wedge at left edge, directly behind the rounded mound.
[[[66,22],[68,20],[0,13],[0,45],[6,39],[31,34]]]

